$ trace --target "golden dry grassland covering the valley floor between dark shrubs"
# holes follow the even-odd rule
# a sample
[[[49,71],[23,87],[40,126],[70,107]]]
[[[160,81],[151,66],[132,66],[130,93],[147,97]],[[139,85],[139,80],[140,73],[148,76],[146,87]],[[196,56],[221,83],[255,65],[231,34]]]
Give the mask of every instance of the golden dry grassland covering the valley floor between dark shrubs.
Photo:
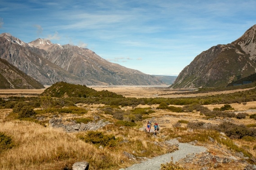
[[[91,87],[97,91],[108,90],[117,94],[122,94],[126,98],[155,98],[165,94],[164,98],[180,98],[190,95],[172,94],[177,91],[166,89],[166,87],[142,87],[142,86],[113,86],[113,87]],[[240,89],[241,91],[248,89]],[[193,96],[212,96],[221,93],[234,93],[239,89],[221,92],[197,93]],[[1,97],[8,96],[37,96],[42,93],[40,90],[0,90]],[[225,104],[204,105],[209,110],[221,108]],[[85,114],[45,112],[37,115],[42,117],[43,123],[36,123],[22,119],[16,119],[12,109],[0,109],[0,136],[1,133],[10,137],[9,148],[4,148],[0,143],[0,169],[1,170],[71,170],[73,163],[77,161],[88,161],[90,170],[119,170],[131,166],[144,160],[144,157],[152,158],[164,153],[175,151],[177,148],[168,146],[165,140],[178,138],[180,142],[198,141],[198,145],[207,147],[208,152],[214,155],[236,156],[236,153],[243,152],[247,162],[256,163],[256,139],[219,139],[219,132],[209,129],[191,129],[188,123],[211,123],[220,125],[227,120],[235,124],[245,126],[256,125],[255,119],[250,119],[250,115],[256,114],[256,102],[229,103],[235,114],[246,112],[244,119],[237,118],[215,118],[209,119],[200,111],[172,112],[165,109],[157,109],[158,104],[123,106],[118,110],[122,113],[131,113],[135,108],[150,108],[154,112],[144,114],[142,119],[135,121],[134,126],[120,124],[113,114],[106,114],[106,106],[102,104],[77,104],[77,106],[87,110]],[[174,105],[172,105],[174,106]],[[181,107],[181,106],[175,106]],[[37,109],[40,109],[37,108]],[[36,110],[36,109],[35,109]],[[104,112],[105,111],[105,112]],[[110,121],[110,125],[102,127],[97,132],[102,132],[103,143],[88,142],[88,132],[65,132],[62,128],[50,126],[49,119],[62,119],[66,124],[78,118],[94,119],[98,117]],[[161,129],[157,136],[140,131],[140,127],[146,127],[146,122],[159,123]],[[255,127],[254,127],[255,129]],[[100,133],[99,133],[100,134]],[[98,135],[99,135],[98,134]],[[111,138],[114,136],[114,138]],[[209,136],[215,142],[209,141]],[[105,143],[104,143],[105,142]],[[5,142],[5,144],[8,142]],[[105,144],[105,145],[103,145]],[[99,148],[99,145],[103,147]],[[1,148],[2,147],[2,148]],[[133,154],[137,158],[131,159],[124,155],[124,151]],[[240,157],[237,157],[241,159]],[[243,169],[246,161],[230,162],[222,164],[219,168],[212,169]],[[190,169],[200,169],[200,165],[184,165]]]

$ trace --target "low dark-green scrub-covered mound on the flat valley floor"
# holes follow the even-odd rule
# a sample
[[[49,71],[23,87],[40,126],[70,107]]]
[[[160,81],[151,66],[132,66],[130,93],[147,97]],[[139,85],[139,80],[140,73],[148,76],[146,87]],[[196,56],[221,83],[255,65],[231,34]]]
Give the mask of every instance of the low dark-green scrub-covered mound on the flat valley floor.
[[[88,98],[88,97],[111,97],[111,98],[123,98],[122,95],[116,94],[107,90],[100,92],[88,88],[85,85],[74,85],[66,82],[57,82],[45,89],[40,96],[50,96],[52,98]]]

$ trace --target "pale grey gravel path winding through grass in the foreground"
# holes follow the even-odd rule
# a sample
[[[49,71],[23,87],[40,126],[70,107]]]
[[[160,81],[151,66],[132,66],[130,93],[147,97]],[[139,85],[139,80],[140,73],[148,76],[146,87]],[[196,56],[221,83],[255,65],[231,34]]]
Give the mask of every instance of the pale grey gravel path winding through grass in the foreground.
[[[171,157],[173,157],[173,162],[176,162],[186,157],[186,155],[189,155],[192,153],[201,153],[201,152],[205,152],[206,150],[207,149],[202,146],[194,146],[192,144],[180,143],[179,150],[173,153],[160,155],[150,160],[143,161],[139,164],[134,164],[126,169],[120,169],[120,170],[159,170],[161,164],[171,161]]]

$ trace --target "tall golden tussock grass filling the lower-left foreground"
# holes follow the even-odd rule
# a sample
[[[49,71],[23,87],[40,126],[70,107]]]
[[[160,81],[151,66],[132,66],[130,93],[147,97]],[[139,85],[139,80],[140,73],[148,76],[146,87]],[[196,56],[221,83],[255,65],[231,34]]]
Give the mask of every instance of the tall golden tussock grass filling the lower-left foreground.
[[[62,130],[43,127],[26,121],[0,123],[0,132],[12,136],[16,146],[1,153],[1,170],[44,169],[44,164],[60,165],[59,168],[75,161],[89,161],[91,166],[104,166],[102,155],[106,151],[78,140],[73,134]],[[117,160],[109,159],[108,165],[117,165]],[[36,167],[36,168],[35,168]]]

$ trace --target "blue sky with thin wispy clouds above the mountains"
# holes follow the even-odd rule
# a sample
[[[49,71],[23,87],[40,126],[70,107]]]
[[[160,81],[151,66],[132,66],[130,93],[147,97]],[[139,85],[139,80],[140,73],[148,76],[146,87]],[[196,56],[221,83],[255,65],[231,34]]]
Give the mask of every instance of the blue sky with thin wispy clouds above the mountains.
[[[256,0],[0,0],[0,33],[89,48],[146,74],[177,76],[256,24]]]

